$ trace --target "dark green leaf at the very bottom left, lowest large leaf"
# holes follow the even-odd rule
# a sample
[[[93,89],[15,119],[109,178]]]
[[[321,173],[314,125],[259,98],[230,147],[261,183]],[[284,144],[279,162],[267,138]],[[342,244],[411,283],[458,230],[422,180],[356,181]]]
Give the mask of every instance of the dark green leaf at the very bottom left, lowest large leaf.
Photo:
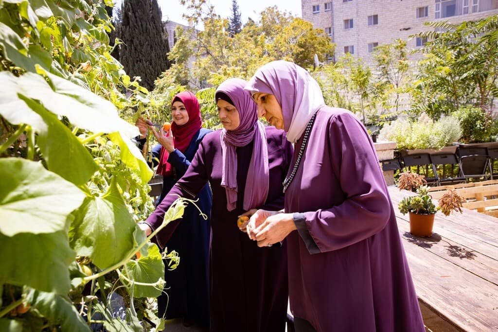
[[[30,289],[26,299],[50,323],[60,325],[61,331],[92,331],[73,304],[60,295]]]

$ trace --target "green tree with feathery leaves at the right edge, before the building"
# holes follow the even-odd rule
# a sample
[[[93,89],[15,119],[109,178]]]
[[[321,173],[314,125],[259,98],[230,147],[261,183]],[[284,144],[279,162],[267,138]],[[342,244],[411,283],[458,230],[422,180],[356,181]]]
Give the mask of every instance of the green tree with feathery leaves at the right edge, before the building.
[[[435,31],[416,35],[429,39],[418,66],[419,89],[425,95],[421,103],[436,117],[466,105],[491,114],[498,96],[498,15],[427,25]]]

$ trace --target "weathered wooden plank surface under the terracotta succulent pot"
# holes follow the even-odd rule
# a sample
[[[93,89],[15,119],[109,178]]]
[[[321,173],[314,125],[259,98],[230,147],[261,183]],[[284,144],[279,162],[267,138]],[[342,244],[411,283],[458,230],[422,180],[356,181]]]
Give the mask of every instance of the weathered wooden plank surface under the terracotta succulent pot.
[[[467,209],[438,213],[432,236],[416,237],[397,209],[410,192],[389,186],[389,194],[427,328],[498,331],[498,219]]]

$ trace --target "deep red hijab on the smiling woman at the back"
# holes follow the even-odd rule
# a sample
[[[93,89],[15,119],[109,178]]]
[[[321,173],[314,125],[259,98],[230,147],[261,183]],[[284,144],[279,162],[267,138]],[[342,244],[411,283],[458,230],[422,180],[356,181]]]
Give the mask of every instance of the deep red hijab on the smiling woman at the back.
[[[184,125],[177,125],[174,121],[171,124],[171,132],[173,133],[173,144],[175,149],[185,153],[192,138],[202,127],[201,110],[199,108],[199,101],[190,91],[184,91],[177,94],[171,101],[171,106],[174,102],[182,102],[188,112],[188,122]],[[169,153],[164,146],[161,148],[159,157],[159,165],[157,166],[157,173],[162,176],[171,175],[172,166],[168,163]]]

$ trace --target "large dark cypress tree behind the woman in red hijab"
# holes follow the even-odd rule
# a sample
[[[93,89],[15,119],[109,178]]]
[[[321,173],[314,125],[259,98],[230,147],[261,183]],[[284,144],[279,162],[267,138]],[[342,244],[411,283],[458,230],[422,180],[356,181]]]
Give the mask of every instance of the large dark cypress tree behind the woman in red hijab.
[[[157,0],[124,0],[122,15],[120,61],[130,77],[140,76],[140,84],[152,90],[170,66],[161,9]]]

